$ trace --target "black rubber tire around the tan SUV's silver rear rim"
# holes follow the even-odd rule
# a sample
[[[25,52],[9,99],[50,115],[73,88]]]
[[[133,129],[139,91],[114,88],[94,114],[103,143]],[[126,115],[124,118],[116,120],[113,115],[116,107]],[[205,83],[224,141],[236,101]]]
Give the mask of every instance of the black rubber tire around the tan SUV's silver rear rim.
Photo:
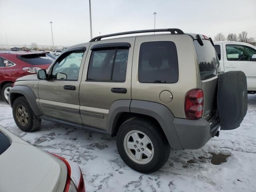
[[[138,130],[146,134],[151,140],[154,155],[146,164],[134,162],[127,154],[124,147],[126,134],[133,130]],[[170,156],[170,145],[158,124],[144,118],[133,117],[126,120],[119,128],[116,138],[116,146],[122,160],[132,169],[141,173],[152,173],[159,170]],[[141,146],[140,146],[141,147]]]

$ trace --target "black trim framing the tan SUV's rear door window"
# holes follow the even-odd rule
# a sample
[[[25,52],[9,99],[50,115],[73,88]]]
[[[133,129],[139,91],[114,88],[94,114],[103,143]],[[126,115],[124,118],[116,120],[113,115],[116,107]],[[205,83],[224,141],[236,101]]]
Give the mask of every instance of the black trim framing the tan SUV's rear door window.
[[[109,43],[109,44],[119,44],[119,43]],[[122,43],[123,44],[123,43]],[[127,43],[130,45],[130,43]],[[102,45],[102,44],[101,44]],[[93,47],[93,46],[92,46]],[[98,50],[98,47],[95,48],[94,50],[92,50],[91,48],[91,54],[90,54],[90,59],[89,59],[89,63],[88,63],[88,68],[87,68],[87,74],[86,74],[86,82],[113,82],[113,83],[124,83],[126,82],[126,76],[125,76],[125,80],[124,81],[118,81],[118,80],[112,80],[113,79],[113,72],[114,72],[114,66],[115,66],[115,62],[116,62],[116,55],[117,55],[117,52],[118,50],[122,50],[122,49],[119,49],[120,47],[125,47],[125,46],[112,46],[112,47],[104,47],[106,49],[102,49],[102,50],[108,50],[109,48],[113,48],[113,50],[115,50],[115,54],[114,54],[114,58],[113,58],[113,63],[112,63],[112,69],[111,69],[111,79],[110,80],[93,80],[93,79],[88,79],[88,73],[89,73],[89,67],[90,67],[90,61],[92,59],[92,52],[93,51],[97,51]],[[129,50],[130,50],[130,47],[126,47],[125,49],[128,50],[128,56],[129,56]],[[101,50],[101,49],[100,49]],[[127,60],[128,60],[128,56],[127,56]],[[127,62],[128,63],[128,62]],[[126,75],[127,75],[127,65],[126,65]]]

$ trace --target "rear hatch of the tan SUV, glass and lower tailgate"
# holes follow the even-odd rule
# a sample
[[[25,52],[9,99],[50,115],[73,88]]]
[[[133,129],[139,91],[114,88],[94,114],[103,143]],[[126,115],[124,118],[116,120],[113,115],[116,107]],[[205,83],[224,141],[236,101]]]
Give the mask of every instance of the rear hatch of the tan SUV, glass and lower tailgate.
[[[213,43],[206,36],[198,35],[197,37],[198,39],[194,40],[194,46],[204,91],[203,118],[209,120],[217,112],[217,73],[220,63]]]

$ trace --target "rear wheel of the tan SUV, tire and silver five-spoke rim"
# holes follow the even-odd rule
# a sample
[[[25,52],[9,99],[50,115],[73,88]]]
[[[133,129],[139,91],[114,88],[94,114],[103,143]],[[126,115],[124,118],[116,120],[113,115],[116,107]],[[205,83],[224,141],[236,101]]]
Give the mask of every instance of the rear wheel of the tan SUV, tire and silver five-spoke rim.
[[[146,174],[160,169],[170,155],[170,145],[161,127],[144,118],[126,120],[118,130],[116,145],[128,166]]]

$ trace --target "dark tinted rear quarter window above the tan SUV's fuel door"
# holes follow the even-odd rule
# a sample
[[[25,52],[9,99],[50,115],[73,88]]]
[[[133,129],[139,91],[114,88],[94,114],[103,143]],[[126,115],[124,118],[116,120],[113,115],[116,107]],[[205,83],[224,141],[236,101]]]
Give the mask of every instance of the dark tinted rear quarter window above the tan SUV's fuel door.
[[[140,46],[139,81],[141,83],[176,83],[178,56],[174,42],[144,42]]]

